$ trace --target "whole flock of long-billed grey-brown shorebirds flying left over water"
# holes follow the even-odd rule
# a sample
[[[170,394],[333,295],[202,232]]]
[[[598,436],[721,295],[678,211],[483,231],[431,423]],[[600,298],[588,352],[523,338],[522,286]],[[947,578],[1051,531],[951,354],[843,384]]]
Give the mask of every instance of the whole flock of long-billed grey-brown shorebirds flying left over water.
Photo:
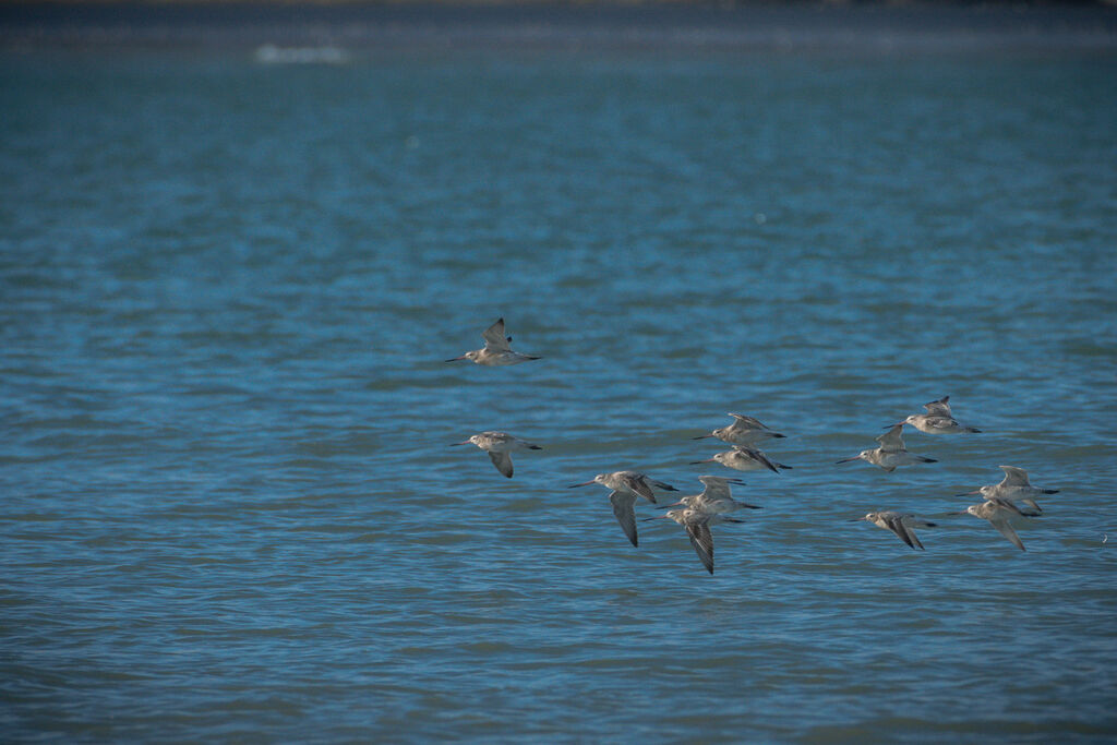
[[[479,365],[512,365],[541,359],[512,350],[512,337],[505,334],[504,318],[498,318],[496,323],[486,328],[483,337],[485,338],[485,346],[483,348],[466,352],[460,356],[447,360],[447,362],[469,360]],[[877,441],[880,443],[879,447],[871,450],[862,450],[852,458],[844,458],[837,462],[843,464],[865,460],[889,472],[900,466],[936,462],[934,458],[926,458],[908,452],[904,445],[905,426],[911,426],[927,434],[973,433],[981,431],[973,427],[963,427],[958,423],[951,411],[948,395],[937,401],[925,403],[924,409],[927,410],[926,413],[911,414],[904,419],[904,421],[891,424],[887,432],[877,438]],[[717,462],[726,468],[738,471],[770,470],[779,472],[782,469],[791,468],[791,466],[772,460],[756,447],[766,440],[783,438],[783,434],[772,430],[753,417],[737,413],[731,413],[729,417],[733,418],[733,422],[727,427],[720,427],[708,434],[701,434],[694,439],[717,438],[732,446],[732,449],[717,452],[705,460],[693,461],[691,465]],[[468,440],[452,445],[476,445],[488,453],[496,469],[507,478],[512,478],[513,475],[512,453],[514,451],[542,449],[535,443],[522,440],[507,432],[498,431],[480,432],[474,434]],[[961,497],[980,494],[984,498],[982,504],[971,505],[965,510],[948,514],[968,514],[989,520],[1014,546],[1021,551],[1025,551],[1023,542],[1012,527],[1012,520],[1019,517],[1039,517],[1043,510],[1035,502],[1037,497],[1044,494],[1056,494],[1059,489],[1033,487],[1028,479],[1028,472],[1022,468],[1001,466],[1001,469],[1004,471],[1004,478],[1000,484],[983,486],[973,491],[956,495]],[[678,502],[668,505],[666,507],[668,512],[661,517],[648,517],[645,518],[645,522],[663,518],[674,520],[682,526],[703,566],[713,574],[714,537],[710,533],[710,527],[718,523],[744,523],[745,520],[733,517],[732,513],[741,509],[760,509],[760,507],[739,502],[733,497],[733,486],[744,484],[741,479],[723,476],[699,476],[698,480],[705,487],[700,494],[685,496]],[[639,545],[636,518],[637,502],[647,499],[652,504],[657,504],[657,489],[678,491],[670,484],[658,481],[645,474],[631,470],[598,474],[589,481],[571,485],[571,488],[589,486],[591,484],[600,484],[610,489],[609,502],[612,504],[613,515],[617,516],[621,529],[633,546]],[[913,550],[924,547],[915,533],[915,528],[935,526],[935,523],[922,519],[916,515],[895,510],[869,513],[865,517],[859,517],[851,522],[859,523],[862,520],[872,523],[886,531],[891,531]]]

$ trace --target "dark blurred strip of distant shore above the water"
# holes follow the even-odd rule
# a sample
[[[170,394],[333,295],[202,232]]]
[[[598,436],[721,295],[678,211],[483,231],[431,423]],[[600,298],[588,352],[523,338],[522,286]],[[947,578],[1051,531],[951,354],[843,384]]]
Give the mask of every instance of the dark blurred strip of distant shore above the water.
[[[0,2],[0,49],[1117,50],[1107,4]]]

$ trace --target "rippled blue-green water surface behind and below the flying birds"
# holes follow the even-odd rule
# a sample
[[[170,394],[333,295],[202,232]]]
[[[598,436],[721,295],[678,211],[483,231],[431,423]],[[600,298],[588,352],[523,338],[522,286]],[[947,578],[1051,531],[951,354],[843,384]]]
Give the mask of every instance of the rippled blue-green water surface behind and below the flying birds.
[[[1111,55],[0,64],[4,739],[1117,734]],[[713,576],[565,488],[727,411],[793,469]],[[945,514],[1002,464],[1027,553]]]

